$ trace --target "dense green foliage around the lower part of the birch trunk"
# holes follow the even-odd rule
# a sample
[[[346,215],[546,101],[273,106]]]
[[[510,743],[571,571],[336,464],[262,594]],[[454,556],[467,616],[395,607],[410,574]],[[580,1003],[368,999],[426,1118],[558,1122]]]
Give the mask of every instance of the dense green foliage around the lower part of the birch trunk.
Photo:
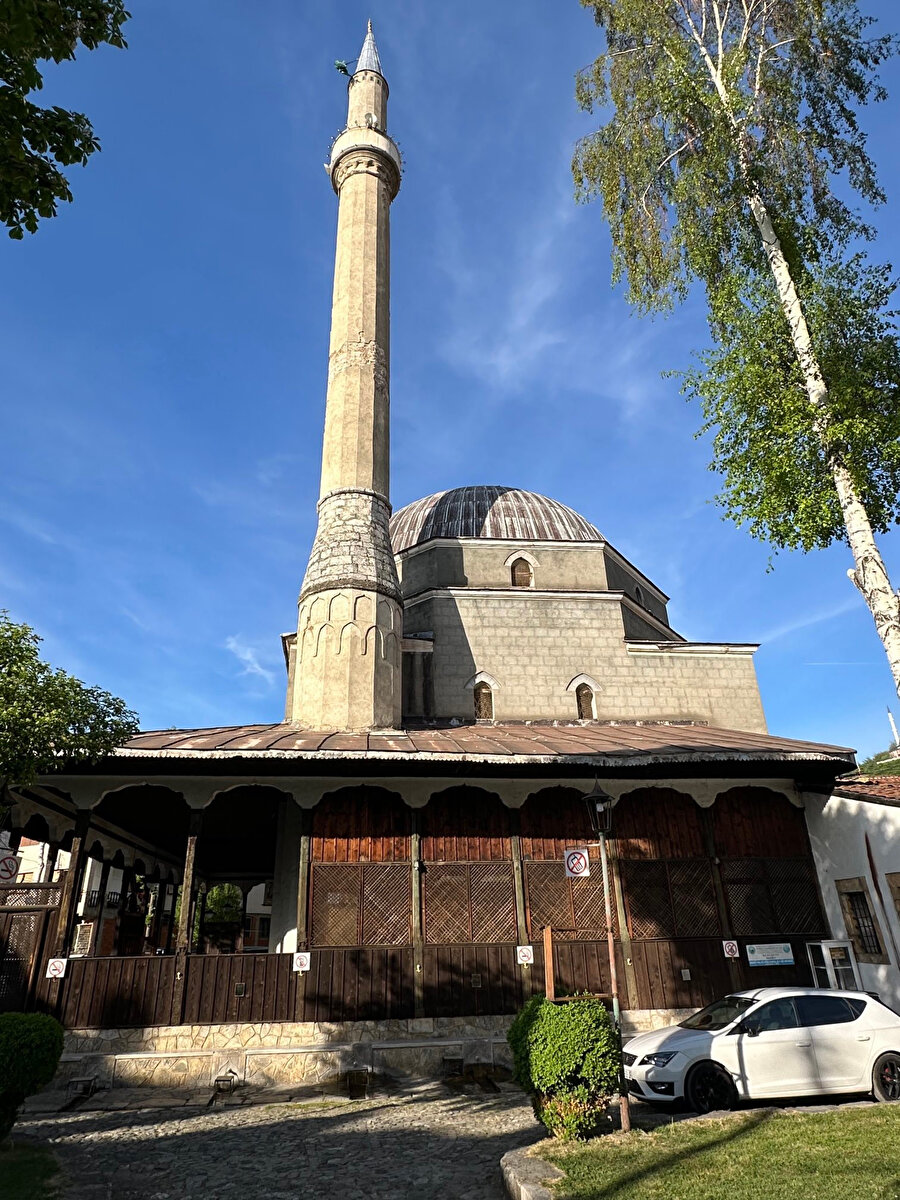
[[[809,551],[846,538],[835,460],[876,532],[900,521],[900,346],[889,268],[856,254],[800,282],[828,385],[824,414],[806,395],[770,276],[721,281],[710,298],[714,346],[683,378],[713,434],[726,515],[779,548]]]

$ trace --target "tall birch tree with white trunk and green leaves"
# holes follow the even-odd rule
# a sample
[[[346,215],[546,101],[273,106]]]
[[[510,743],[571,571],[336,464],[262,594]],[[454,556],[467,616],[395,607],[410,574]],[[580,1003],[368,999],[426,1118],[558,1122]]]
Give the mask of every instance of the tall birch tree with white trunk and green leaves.
[[[638,311],[706,288],[688,390],[726,512],[778,547],[842,539],[900,692],[900,599],[875,540],[900,520],[900,355],[858,209],[883,200],[858,112],[884,98],[856,0],[581,0],[606,50],[577,100],[608,120],[572,169]],[[608,109],[606,108],[608,106]]]

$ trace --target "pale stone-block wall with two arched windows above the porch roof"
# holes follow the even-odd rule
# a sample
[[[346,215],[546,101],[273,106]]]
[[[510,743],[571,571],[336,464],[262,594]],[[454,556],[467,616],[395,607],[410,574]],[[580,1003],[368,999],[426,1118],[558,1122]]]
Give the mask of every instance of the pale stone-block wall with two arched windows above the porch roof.
[[[409,601],[404,630],[433,631],[439,719],[472,718],[467,684],[484,671],[497,680],[496,720],[572,720],[566,685],[584,673],[600,685],[598,720],[695,720],[766,732],[749,653],[635,653],[613,596],[444,592]]]

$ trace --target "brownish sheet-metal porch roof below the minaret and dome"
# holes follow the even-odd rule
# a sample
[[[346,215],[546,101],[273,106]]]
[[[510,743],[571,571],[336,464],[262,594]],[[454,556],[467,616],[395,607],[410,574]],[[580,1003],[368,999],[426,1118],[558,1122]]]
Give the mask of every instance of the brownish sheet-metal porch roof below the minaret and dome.
[[[265,758],[294,761],[589,763],[833,763],[853,766],[847,746],[694,722],[521,722],[420,726],[362,733],[312,731],[288,724],[233,725],[139,733],[118,758]]]

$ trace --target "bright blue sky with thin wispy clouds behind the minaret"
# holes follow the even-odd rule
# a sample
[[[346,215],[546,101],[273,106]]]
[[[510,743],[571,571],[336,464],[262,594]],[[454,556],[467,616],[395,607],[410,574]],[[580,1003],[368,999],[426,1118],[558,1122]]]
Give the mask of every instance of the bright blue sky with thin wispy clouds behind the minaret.
[[[864,0],[896,22],[890,0]],[[576,0],[154,0],[130,49],[48,72],[103,150],[74,203],[5,242],[0,606],[145,728],[278,720],[278,635],[314,533],[343,124],[336,58],[368,16],[407,170],[392,210],[392,499],[463,484],[544,492],[672,596],[698,641],[761,642],[773,732],[863,754],[896,709],[842,546],[770,552],[709,503],[698,414],[661,372],[703,308],[650,322],[610,287],[575,70]],[[551,16],[552,11],[552,16]],[[886,24],[886,29],[890,28]],[[900,66],[864,124],[896,253]],[[900,576],[900,536],[882,541]]]

